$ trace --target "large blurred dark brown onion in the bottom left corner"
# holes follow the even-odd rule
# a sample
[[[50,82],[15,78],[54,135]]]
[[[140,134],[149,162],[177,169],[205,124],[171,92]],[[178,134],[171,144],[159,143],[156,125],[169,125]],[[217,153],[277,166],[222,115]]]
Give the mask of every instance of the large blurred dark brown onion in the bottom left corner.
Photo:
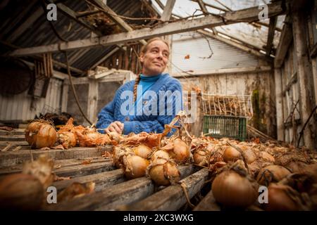
[[[0,208],[4,210],[39,210],[44,188],[35,176],[12,174],[0,182]]]

